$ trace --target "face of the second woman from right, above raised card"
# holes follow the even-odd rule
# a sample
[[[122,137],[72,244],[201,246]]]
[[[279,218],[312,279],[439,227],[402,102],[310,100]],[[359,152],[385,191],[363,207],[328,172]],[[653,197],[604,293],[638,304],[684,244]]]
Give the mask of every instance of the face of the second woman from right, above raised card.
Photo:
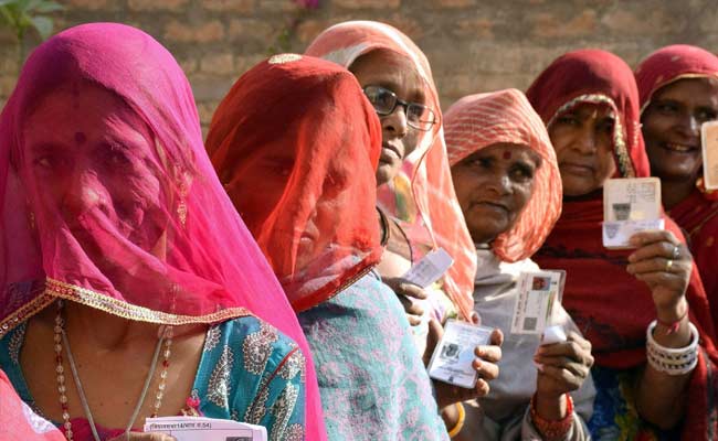
[[[556,118],[548,131],[561,171],[563,194],[591,193],[603,187],[615,173],[614,127],[606,105],[580,104]]]

